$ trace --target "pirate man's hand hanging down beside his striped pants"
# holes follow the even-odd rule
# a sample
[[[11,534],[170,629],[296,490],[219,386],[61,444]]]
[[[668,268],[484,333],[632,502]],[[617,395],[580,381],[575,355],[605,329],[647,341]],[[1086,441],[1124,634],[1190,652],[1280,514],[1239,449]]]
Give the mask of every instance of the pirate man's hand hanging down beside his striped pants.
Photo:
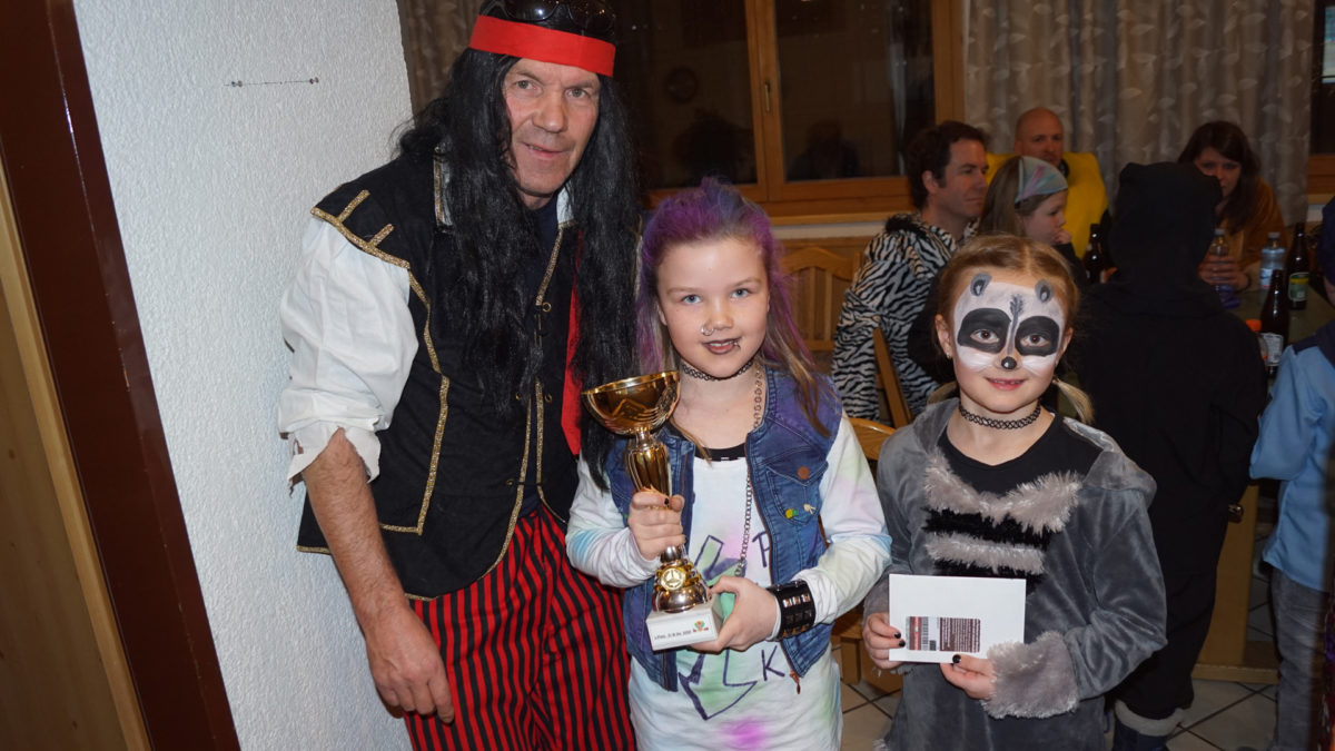
[[[441,649],[411,608],[390,609],[363,633],[371,679],[386,704],[454,722]]]

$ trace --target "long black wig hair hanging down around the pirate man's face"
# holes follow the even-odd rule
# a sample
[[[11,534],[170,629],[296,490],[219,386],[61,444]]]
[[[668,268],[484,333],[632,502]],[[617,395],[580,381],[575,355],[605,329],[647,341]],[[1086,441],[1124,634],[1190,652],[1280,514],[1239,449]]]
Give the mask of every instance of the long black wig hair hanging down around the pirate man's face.
[[[445,94],[399,139],[405,156],[438,159],[450,175],[446,203],[455,259],[435,259],[430,285],[441,309],[433,326],[463,331],[463,361],[498,414],[523,409],[542,351],[525,325],[531,301],[519,279],[546,258],[510,170],[510,120],[502,84],[515,57],[465,49]],[[579,231],[575,290],[579,339],[574,374],[585,388],[634,376],[634,283],[639,208],[634,151],[615,82],[598,76],[598,122],[566,182]],[[583,453],[603,482],[614,436],[582,414]]]

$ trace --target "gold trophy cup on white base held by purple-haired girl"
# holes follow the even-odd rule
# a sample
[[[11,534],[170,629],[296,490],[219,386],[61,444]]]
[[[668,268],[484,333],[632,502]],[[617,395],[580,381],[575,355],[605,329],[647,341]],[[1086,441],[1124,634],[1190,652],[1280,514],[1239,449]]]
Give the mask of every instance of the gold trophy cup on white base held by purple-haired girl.
[[[654,432],[677,408],[676,370],[637,376],[583,392],[585,406],[609,430],[629,436],[626,470],[637,490],[672,496],[668,446]],[[705,580],[681,545],[662,552],[654,575],[654,612],[647,619],[654,649],[708,641],[718,635],[720,617]]]

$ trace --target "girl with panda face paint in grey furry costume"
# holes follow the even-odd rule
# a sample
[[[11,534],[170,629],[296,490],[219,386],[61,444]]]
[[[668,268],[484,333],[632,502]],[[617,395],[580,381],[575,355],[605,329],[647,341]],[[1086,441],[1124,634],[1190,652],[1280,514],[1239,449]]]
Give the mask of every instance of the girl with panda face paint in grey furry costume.
[[[941,273],[936,331],[959,398],[881,449],[889,572],[1025,579],[1024,643],[908,665],[888,748],[1101,751],[1104,692],[1164,641],[1153,480],[1040,404],[1077,303],[1061,257],[1012,235],[975,238]],[[1084,396],[1056,384],[1085,418]],[[886,597],[881,581],[862,636],[873,663],[896,668],[886,651],[904,639]]]

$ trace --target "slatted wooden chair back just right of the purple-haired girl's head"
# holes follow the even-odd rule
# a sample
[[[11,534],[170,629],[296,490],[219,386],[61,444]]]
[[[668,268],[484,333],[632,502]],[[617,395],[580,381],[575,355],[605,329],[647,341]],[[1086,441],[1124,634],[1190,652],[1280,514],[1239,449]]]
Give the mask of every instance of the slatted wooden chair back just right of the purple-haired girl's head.
[[[793,277],[793,317],[806,349],[829,373],[834,351],[834,327],[857,271],[858,255],[838,255],[824,247],[808,246],[784,257],[784,271]]]

